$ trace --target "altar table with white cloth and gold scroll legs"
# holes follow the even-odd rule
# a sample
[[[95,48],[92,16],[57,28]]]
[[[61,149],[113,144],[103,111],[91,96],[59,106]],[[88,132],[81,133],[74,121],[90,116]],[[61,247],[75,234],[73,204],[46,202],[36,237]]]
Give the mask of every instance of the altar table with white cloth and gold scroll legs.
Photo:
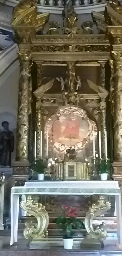
[[[85,227],[87,232],[90,233],[91,229],[89,228],[88,222],[89,223],[91,222],[92,216],[93,215],[98,216],[97,212],[100,215],[101,213],[108,211],[110,209],[109,207],[110,203],[109,202],[105,203],[103,200],[103,196],[114,195],[116,208],[117,208],[117,237],[118,237],[118,243],[122,246],[121,195],[120,195],[120,188],[118,186],[117,181],[42,181],[42,182],[32,181],[32,182],[25,182],[24,187],[12,187],[10,245],[12,245],[14,242],[17,242],[18,240],[19,195],[27,195],[26,196],[27,204],[25,204],[24,201],[22,202],[24,210],[26,209],[27,212],[29,212],[30,210],[28,209],[33,210],[35,207],[35,211],[33,210],[33,216],[35,217],[39,215],[39,211],[41,211],[41,215],[43,213],[44,215],[43,218],[40,215],[40,218],[42,218],[42,222],[45,218],[45,223],[46,223],[45,224],[46,227],[43,228],[44,230],[43,234],[46,232],[46,229],[48,228],[48,213],[47,211],[45,211],[43,207],[41,207],[41,204],[35,203],[35,205],[32,206],[31,196],[34,196],[34,195],[81,195],[81,196],[101,195],[101,199],[98,201],[98,204],[100,204],[100,207],[97,207],[97,205],[96,206],[93,205],[93,208],[91,207],[91,210],[88,212],[88,214],[85,217]],[[29,204],[29,200],[30,200],[30,204]],[[31,205],[32,208],[29,208],[30,207],[29,205]],[[39,216],[37,218],[39,218]],[[41,223],[41,219],[39,223]],[[90,225],[92,225],[92,223]],[[101,235],[104,233],[103,237],[105,238],[105,236],[107,236],[106,230],[104,230],[104,228],[100,226],[98,228],[102,230]],[[33,232],[34,230],[35,230],[35,234],[37,234],[37,229],[35,227],[33,227]],[[91,234],[92,238],[96,238],[96,231],[97,230],[94,230],[93,233]],[[29,239],[28,234],[26,234],[26,236],[27,236],[26,238]],[[100,238],[98,234],[97,234],[97,238]],[[102,240],[102,236],[101,236],[101,240]]]

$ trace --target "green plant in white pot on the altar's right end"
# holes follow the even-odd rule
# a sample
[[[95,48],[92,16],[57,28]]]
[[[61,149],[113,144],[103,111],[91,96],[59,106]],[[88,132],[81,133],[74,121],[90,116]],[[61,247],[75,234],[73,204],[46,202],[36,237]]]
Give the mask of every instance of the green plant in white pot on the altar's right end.
[[[110,159],[101,159],[100,161],[100,173],[101,180],[107,180],[108,170],[110,169]]]

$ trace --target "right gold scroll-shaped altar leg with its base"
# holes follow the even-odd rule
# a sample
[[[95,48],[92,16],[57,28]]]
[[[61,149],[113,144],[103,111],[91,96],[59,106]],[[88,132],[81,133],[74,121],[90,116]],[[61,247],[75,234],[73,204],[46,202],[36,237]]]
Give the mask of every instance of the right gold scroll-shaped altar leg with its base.
[[[94,203],[89,207],[84,222],[87,235],[81,243],[81,247],[94,247],[94,250],[101,249],[101,244],[107,238],[107,230],[104,223],[96,226],[93,224],[93,220],[97,216],[102,217],[103,213],[108,211],[110,207],[110,202],[106,201],[103,196],[100,197],[97,204]]]

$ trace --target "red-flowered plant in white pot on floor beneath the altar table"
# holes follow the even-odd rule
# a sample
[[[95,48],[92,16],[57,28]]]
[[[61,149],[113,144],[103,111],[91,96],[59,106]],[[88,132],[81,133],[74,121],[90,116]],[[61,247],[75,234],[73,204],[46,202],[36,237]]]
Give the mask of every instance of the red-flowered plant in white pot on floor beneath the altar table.
[[[69,206],[62,206],[63,213],[58,218],[54,219],[57,225],[65,231],[65,236],[63,238],[64,249],[71,250],[73,247],[72,229],[85,229],[84,223],[77,219],[76,210]]]

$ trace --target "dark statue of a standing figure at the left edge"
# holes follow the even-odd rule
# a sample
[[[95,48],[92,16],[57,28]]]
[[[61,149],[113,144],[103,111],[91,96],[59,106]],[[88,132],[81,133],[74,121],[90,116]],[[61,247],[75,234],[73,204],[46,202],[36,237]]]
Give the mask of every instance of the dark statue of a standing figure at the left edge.
[[[0,165],[11,167],[11,153],[14,151],[14,134],[9,131],[7,121],[2,122],[4,131],[0,133]]]

